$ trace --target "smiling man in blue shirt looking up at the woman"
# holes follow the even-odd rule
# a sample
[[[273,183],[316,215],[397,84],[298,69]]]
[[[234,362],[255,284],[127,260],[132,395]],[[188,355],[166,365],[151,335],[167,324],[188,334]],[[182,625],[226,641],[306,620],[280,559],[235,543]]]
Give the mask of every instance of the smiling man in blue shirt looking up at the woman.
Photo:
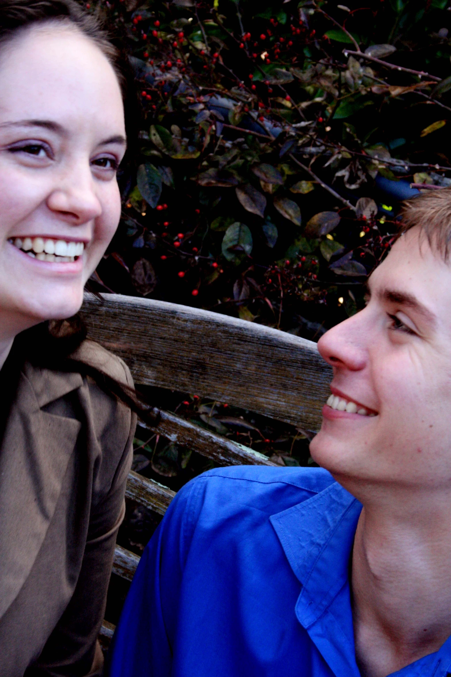
[[[451,191],[415,198],[333,367],[321,468],[219,468],[139,565],[112,677],[451,673]]]

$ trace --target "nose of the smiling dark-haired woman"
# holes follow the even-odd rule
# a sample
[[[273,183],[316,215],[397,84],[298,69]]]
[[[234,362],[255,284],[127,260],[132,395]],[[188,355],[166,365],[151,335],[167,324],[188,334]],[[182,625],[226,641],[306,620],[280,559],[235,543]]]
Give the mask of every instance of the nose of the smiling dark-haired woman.
[[[101,203],[88,162],[78,162],[70,171],[57,175],[47,206],[72,225],[82,225],[99,217]]]

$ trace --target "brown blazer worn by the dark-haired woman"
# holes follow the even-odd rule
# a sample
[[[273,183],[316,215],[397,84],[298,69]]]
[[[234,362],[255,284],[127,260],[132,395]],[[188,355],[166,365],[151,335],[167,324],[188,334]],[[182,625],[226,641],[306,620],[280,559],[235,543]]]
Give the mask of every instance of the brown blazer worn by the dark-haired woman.
[[[76,356],[133,385],[99,345]],[[101,674],[135,424],[80,374],[22,369],[0,447],[0,677]]]

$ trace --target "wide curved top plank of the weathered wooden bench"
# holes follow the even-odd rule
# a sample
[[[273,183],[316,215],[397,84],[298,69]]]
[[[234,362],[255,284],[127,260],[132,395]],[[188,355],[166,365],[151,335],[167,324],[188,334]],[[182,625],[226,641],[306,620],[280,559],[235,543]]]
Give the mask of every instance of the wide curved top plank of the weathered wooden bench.
[[[153,299],[85,295],[89,336],[135,383],[212,397],[315,431],[331,369],[316,344],[261,324]]]

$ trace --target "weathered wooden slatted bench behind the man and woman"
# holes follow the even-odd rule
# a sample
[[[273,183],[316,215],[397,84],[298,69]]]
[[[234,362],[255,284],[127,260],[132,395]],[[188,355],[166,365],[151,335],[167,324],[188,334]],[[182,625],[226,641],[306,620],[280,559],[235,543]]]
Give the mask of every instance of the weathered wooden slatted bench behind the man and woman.
[[[316,344],[260,324],[183,305],[120,294],[86,294],[89,338],[120,355],[137,385],[212,397],[316,431],[329,395],[331,370]],[[263,454],[162,412],[152,431],[220,465],[273,465]],[[126,498],[164,515],[174,492],[137,473]],[[132,580],[139,557],[116,546],[113,571]],[[114,626],[104,621],[107,645]]]

